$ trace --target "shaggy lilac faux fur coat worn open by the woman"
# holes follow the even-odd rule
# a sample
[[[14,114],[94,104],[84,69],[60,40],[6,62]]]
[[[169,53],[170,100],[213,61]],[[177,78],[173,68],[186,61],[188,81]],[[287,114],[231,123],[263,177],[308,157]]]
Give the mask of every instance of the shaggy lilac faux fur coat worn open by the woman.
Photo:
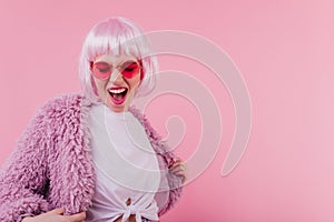
[[[65,208],[67,215],[89,208],[96,180],[87,124],[91,105],[71,94],[39,110],[0,172],[0,221],[21,221],[55,208]],[[130,111],[145,127],[161,170],[167,170],[174,154],[147,119],[135,108]],[[167,179],[170,190],[156,194],[159,215],[181,192],[180,178],[167,173]]]

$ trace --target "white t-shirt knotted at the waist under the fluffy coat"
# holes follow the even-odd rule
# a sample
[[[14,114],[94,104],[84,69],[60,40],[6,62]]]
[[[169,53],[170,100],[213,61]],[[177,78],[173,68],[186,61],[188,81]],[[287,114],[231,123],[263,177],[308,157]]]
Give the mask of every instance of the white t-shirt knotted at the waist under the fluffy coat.
[[[140,122],[130,112],[116,113],[98,104],[90,109],[88,125],[97,182],[86,220],[110,222],[122,215],[126,221],[130,214],[139,222],[158,220],[154,196],[160,171]]]

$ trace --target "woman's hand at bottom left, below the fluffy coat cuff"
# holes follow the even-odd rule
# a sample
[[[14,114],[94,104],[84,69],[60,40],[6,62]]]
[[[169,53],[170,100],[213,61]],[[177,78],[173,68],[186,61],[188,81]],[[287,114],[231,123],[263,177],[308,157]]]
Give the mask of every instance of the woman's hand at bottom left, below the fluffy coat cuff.
[[[22,222],[82,222],[86,219],[86,212],[72,215],[62,215],[63,211],[63,209],[55,209],[33,218],[24,218]]]

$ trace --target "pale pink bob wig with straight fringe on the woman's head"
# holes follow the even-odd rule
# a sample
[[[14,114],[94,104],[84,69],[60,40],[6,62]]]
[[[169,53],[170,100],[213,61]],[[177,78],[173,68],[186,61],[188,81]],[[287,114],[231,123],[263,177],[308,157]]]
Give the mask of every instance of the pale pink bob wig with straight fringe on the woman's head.
[[[149,40],[134,22],[119,17],[110,18],[91,28],[81,49],[79,78],[84,94],[91,102],[99,102],[99,99],[91,75],[90,62],[106,53],[128,54],[141,62],[143,79],[136,95],[145,95],[155,88],[158,63],[153,56]]]

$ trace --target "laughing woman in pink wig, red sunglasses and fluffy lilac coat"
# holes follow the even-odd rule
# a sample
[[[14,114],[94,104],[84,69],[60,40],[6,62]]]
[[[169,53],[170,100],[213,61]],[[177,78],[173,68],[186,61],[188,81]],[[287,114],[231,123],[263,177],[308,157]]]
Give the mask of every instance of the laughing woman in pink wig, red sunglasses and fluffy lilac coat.
[[[82,94],[40,109],[0,174],[0,221],[158,221],[180,195],[184,163],[131,101],[157,62],[124,18],[97,23],[80,57]]]

